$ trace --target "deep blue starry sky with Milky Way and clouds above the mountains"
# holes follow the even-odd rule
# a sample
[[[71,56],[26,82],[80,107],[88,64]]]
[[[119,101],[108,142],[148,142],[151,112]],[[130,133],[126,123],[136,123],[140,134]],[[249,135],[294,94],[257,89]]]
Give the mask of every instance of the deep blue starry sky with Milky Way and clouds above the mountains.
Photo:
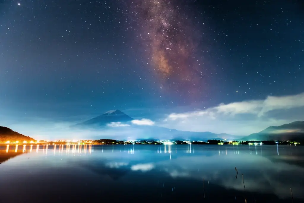
[[[0,0],[1,125],[111,109],[234,135],[304,120],[303,12],[296,0]]]

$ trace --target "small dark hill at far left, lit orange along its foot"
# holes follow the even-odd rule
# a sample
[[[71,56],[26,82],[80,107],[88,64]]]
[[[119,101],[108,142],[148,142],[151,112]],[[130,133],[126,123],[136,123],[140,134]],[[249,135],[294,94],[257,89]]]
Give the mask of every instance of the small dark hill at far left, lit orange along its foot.
[[[7,141],[10,141],[10,142],[16,142],[16,141],[30,142],[30,141],[35,141],[35,139],[30,138],[30,137],[25,136],[25,135],[22,135],[22,134],[20,134],[18,132],[15,132],[15,131],[7,128],[7,127],[0,126],[0,142],[5,143]]]

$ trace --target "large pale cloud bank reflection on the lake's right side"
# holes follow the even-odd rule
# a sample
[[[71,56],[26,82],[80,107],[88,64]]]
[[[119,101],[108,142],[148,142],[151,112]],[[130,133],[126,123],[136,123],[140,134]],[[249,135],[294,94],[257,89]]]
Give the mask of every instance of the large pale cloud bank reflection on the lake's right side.
[[[216,162],[215,162],[216,160]],[[188,177],[211,181],[227,189],[244,191],[242,173],[246,191],[274,193],[280,198],[290,198],[290,189],[295,198],[303,198],[302,182],[304,169],[286,163],[273,163],[261,156],[199,156],[181,157],[170,162],[157,163],[171,177]],[[239,176],[236,179],[234,168]]]

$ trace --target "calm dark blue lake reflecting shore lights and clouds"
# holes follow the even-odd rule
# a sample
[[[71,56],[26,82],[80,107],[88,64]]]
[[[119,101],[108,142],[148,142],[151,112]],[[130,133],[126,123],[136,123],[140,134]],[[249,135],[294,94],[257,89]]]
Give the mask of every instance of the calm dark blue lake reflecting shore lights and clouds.
[[[304,202],[302,146],[80,146],[0,146],[0,202]]]

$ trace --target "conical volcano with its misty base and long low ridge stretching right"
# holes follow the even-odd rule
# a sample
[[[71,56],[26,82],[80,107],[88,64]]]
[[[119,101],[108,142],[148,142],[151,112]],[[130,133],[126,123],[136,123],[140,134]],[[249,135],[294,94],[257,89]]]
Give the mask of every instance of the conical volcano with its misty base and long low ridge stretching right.
[[[160,126],[135,125],[132,117],[120,110],[111,110],[88,121],[76,124],[72,127],[90,128],[100,131],[100,137],[96,139],[235,139],[237,136],[228,134],[215,134],[212,132],[178,131]],[[120,122],[124,126],[108,126],[112,122]]]

